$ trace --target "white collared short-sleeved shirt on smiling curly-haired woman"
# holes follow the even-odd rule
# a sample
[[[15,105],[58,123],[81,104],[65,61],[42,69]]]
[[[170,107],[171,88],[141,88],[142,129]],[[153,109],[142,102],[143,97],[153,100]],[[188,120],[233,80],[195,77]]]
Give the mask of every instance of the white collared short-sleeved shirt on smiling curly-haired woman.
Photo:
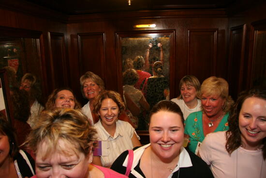
[[[102,147],[105,149],[103,152],[106,153],[106,156],[101,156],[103,167],[111,166],[122,152],[133,149],[131,139],[135,129],[128,122],[121,120],[116,122],[114,137],[103,128],[101,120],[94,124],[94,128],[97,130],[98,140],[107,142],[107,146]]]

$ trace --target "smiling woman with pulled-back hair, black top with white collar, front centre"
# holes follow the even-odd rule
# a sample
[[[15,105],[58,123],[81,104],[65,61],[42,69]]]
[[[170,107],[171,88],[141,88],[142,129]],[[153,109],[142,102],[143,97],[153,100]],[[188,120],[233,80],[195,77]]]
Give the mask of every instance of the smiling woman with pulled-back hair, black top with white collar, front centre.
[[[130,178],[213,178],[207,164],[182,146],[184,118],[176,103],[156,104],[148,130],[150,144],[134,149]],[[125,174],[128,160],[125,151],[111,169]]]

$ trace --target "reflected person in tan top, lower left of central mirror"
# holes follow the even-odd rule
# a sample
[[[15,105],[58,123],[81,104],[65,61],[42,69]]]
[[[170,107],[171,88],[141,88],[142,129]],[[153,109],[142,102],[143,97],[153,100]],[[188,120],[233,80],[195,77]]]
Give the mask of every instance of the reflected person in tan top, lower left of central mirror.
[[[149,104],[143,96],[142,92],[134,88],[134,84],[138,81],[138,74],[134,69],[128,69],[123,73],[123,91],[127,94],[131,100],[140,108],[138,116],[138,129],[144,129],[146,126],[145,117],[143,111],[149,110]],[[128,103],[126,103],[128,105]],[[130,109],[130,107],[128,107]]]

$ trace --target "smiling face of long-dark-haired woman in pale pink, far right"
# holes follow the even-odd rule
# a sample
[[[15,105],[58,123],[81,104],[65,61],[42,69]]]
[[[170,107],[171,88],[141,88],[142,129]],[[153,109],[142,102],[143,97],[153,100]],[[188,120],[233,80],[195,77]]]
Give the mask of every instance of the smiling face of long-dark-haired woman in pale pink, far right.
[[[239,113],[239,129],[242,145],[246,149],[257,149],[266,137],[266,100],[247,98]]]

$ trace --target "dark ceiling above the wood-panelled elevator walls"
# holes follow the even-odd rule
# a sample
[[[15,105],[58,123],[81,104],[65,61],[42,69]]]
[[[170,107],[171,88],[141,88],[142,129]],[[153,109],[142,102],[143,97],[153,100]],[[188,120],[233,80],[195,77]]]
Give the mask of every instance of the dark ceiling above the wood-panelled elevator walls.
[[[170,9],[228,8],[237,0],[26,0],[65,15]]]

